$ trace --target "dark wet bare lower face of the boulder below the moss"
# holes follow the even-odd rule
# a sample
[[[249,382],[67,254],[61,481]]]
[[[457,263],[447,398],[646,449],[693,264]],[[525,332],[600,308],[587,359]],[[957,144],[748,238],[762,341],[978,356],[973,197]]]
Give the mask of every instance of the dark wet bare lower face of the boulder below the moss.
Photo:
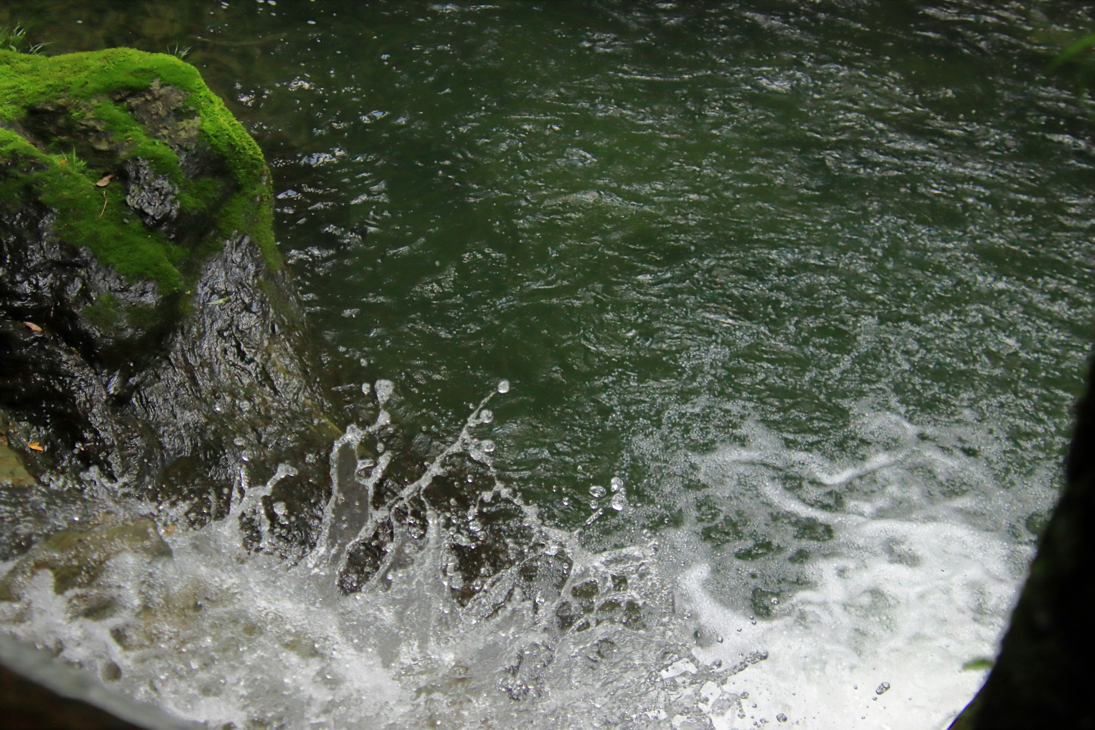
[[[49,222],[33,206],[0,218],[0,404],[46,447],[41,471],[96,465],[169,493],[208,491],[185,480],[214,475],[222,490],[244,456],[261,467],[264,454],[330,443],[292,290],[246,235],[203,266],[189,312],[142,326],[94,302],[155,313],[154,283],[57,242]],[[210,505],[210,517],[223,511]]]

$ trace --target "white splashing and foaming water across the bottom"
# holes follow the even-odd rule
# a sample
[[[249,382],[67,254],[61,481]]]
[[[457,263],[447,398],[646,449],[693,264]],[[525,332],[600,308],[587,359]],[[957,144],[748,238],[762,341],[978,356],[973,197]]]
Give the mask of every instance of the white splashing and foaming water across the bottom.
[[[488,460],[470,434],[489,419],[486,403],[422,480],[458,451]],[[757,428],[745,447],[693,457],[713,494],[751,490],[773,510],[833,528],[794,587],[764,599],[768,615],[757,615],[756,593],[753,607],[735,598],[748,594],[748,572],[735,571],[745,564],[688,526],[602,552],[580,533],[540,528],[542,552],[573,560],[562,590],[517,591],[488,612],[489,601],[452,599],[434,520],[414,561],[390,567],[388,590],[344,595],[333,509],[297,565],[241,547],[239,518],[276,475],[247,489],[230,519],[199,530],[169,526],[183,522],[183,507],[157,512],[170,557],[114,549],[90,587],[61,594],[49,570],[27,572],[19,600],[0,602],[0,621],[211,728],[945,727],[982,681],[983,669],[964,665],[994,653],[1025,569],[1029,548],[1000,531],[1016,500],[932,499],[948,483],[991,476],[896,417],[871,415],[862,428],[888,433],[892,448],[834,462]],[[333,460],[368,432],[347,429]],[[788,488],[804,479],[850,494],[869,482],[872,496],[820,510]],[[989,484],[977,494],[992,493]],[[527,520],[535,513],[527,506]],[[562,621],[564,603],[581,601],[589,611]],[[631,621],[598,621],[621,605]]]

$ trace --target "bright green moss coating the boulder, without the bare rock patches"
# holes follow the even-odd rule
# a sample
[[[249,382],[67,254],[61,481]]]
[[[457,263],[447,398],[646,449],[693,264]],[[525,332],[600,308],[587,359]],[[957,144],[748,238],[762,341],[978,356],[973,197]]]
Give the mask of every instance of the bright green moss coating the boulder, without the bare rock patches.
[[[158,138],[118,102],[155,80],[185,94],[183,107],[197,115],[199,141],[224,161],[223,179],[186,178],[171,140]],[[81,169],[72,152],[37,149],[12,131],[33,111],[57,108],[71,108],[73,124],[108,134],[116,163],[140,158],[166,175],[178,188],[183,213],[208,217],[212,232],[194,251],[172,244],[130,213],[123,186],[94,185],[104,171]],[[87,246],[127,279],[153,279],[163,293],[178,291],[198,262],[238,234],[252,237],[272,269],[281,266],[262,151],[197,69],[174,56],[131,48],[55,57],[0,50],[0,127],[8,127],[0,128],[0,205],[38,197],[56,211],[60,240]]]

